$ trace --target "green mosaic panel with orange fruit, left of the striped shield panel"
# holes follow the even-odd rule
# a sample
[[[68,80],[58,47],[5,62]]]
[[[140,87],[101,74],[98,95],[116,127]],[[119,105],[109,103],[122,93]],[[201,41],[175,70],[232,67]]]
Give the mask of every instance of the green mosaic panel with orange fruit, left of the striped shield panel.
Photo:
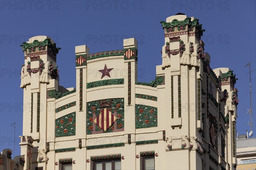
[[[76,112],[55,120],[55,137],[76,135]]]

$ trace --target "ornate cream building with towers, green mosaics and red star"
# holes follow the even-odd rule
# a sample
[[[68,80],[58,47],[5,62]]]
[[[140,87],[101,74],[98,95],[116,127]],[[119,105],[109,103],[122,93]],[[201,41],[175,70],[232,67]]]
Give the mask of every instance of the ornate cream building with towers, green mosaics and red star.
[[[76,46],[76,89],[59,85],[59,48],[49,37],[21,45],[20,87],[31,105],[20,136],[24,169],[236,169],[233,71],[210,68],[195,17],[177,14],[161,24],[163,65],[151,83],[137,82],[134,38],[94,54]]]

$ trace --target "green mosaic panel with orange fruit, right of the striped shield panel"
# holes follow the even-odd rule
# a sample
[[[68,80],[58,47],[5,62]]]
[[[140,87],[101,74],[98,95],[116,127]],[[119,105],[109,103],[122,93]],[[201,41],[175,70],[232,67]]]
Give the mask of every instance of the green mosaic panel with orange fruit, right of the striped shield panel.
[[[135,127],[157,127],[157,108],[135,104]]]

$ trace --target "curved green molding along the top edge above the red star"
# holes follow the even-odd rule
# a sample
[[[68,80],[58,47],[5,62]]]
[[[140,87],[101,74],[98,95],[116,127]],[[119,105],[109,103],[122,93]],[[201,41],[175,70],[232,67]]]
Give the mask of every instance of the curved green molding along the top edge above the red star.
[[[123,56],[123,50],[112,50],[112,51],[103,51],[93,54],[87,54],[87,61],[91,59],[103,58],[103,57],[111,57],[111,56]]]

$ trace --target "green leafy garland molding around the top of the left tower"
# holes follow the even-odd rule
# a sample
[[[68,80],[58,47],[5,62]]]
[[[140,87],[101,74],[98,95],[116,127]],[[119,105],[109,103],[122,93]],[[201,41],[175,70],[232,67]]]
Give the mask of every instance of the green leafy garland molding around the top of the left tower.
[[[26,54],[44,51],[52,54],[55,57],[56,54],[58,54],[58,51],[61,49],[57,48],[55,43],[52,44],[51,40],[48,38],[41,42],[39,42],[38,40],[34,40],[32,43],[23,42],[23,45],[20,46]]]

